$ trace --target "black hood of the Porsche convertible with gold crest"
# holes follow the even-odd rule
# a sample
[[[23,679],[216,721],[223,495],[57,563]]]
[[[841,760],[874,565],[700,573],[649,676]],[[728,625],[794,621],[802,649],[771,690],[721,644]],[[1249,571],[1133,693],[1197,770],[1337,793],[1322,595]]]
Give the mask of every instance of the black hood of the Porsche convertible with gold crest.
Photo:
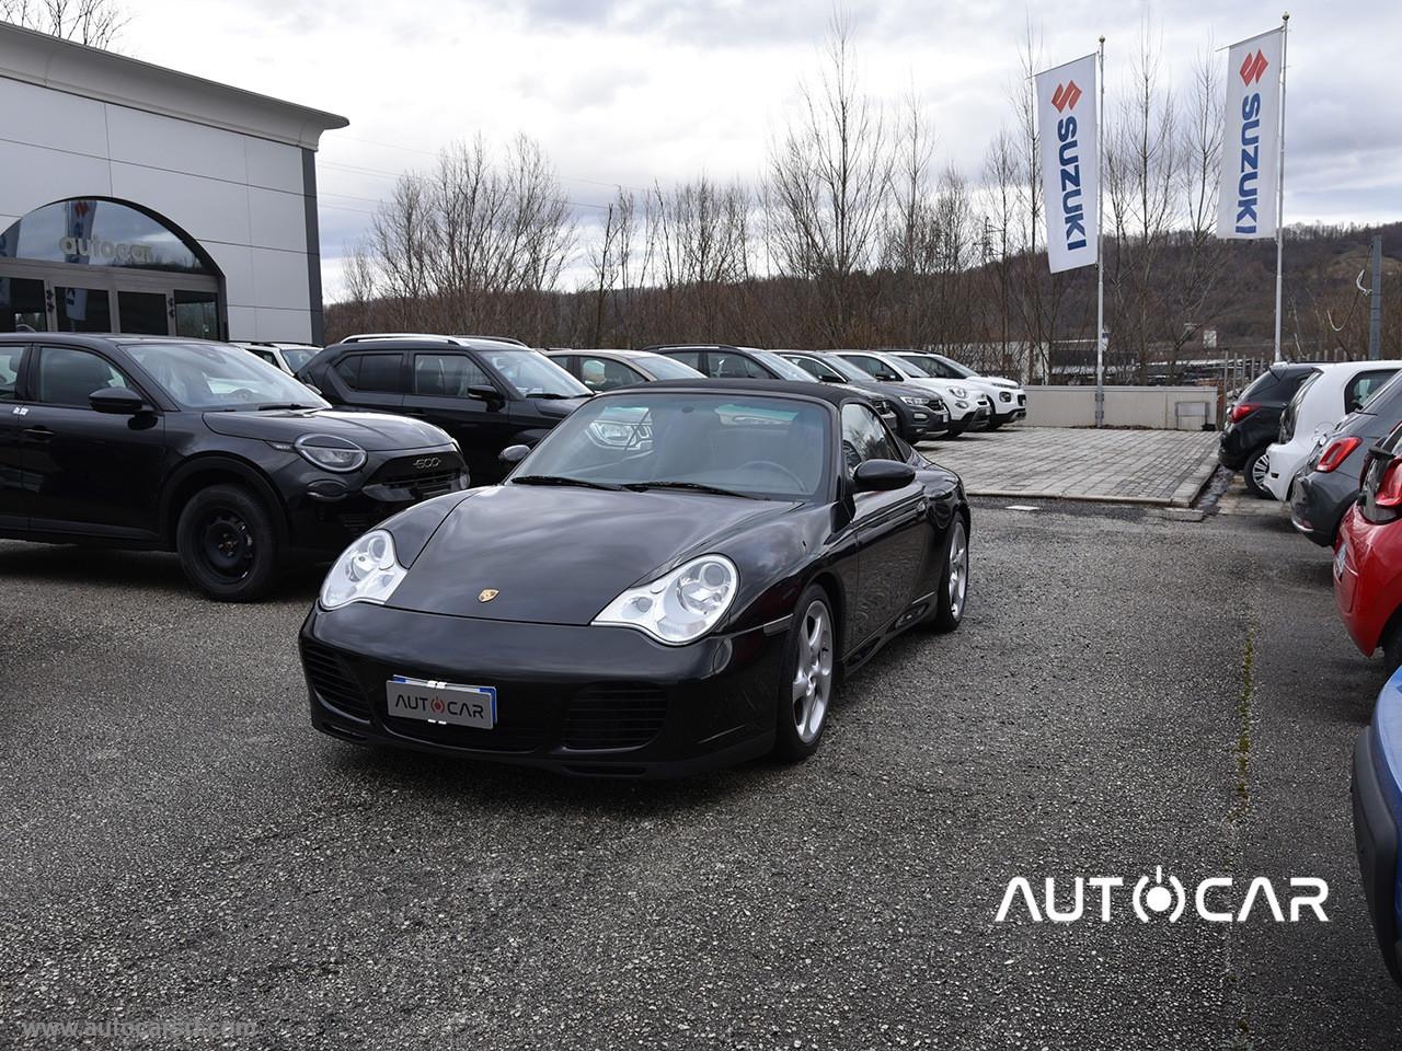
[[[585,625],[632,584],[798,506],[674,490],[489,486],[443,520],[390,605]],[[484,603],[488,590],[496,594]]]

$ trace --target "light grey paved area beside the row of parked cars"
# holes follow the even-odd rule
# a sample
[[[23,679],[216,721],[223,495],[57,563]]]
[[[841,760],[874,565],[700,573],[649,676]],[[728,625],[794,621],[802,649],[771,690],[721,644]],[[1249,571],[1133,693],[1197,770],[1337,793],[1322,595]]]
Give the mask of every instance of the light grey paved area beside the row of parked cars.
[[[1202,430],[1011,427],[920,451],[958,471],[972,496],[1056,497],[1187,507],[1217,468]]]

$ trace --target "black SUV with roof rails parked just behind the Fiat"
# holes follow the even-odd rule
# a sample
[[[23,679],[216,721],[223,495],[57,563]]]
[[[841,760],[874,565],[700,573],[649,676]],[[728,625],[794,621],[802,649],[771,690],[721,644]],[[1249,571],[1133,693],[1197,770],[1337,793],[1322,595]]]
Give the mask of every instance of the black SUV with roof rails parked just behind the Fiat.
[[[297,371],[334,405],[443,427],[477,485],[499,482],[508,446],[534,446],[592,391],[543,353],[491,336],[362,335]]]

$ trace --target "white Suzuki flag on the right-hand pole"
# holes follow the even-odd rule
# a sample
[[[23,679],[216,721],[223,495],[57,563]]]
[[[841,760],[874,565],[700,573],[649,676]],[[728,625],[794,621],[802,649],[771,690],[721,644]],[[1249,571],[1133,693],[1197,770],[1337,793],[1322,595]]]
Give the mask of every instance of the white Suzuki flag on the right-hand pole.
[[[1227,111],[1217,235],[1274,237],[1280,163],[1280,29],[1227,52]]]

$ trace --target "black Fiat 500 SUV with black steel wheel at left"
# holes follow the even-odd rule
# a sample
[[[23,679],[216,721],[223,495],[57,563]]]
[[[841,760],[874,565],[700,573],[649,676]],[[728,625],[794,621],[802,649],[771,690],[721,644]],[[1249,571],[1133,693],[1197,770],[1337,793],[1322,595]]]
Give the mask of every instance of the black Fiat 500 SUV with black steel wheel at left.
[[[178,551],[212,598],[262,596],[381,518],[465,489],[453,440],[329,412],[229,343],[0,335],[0,537]]]

